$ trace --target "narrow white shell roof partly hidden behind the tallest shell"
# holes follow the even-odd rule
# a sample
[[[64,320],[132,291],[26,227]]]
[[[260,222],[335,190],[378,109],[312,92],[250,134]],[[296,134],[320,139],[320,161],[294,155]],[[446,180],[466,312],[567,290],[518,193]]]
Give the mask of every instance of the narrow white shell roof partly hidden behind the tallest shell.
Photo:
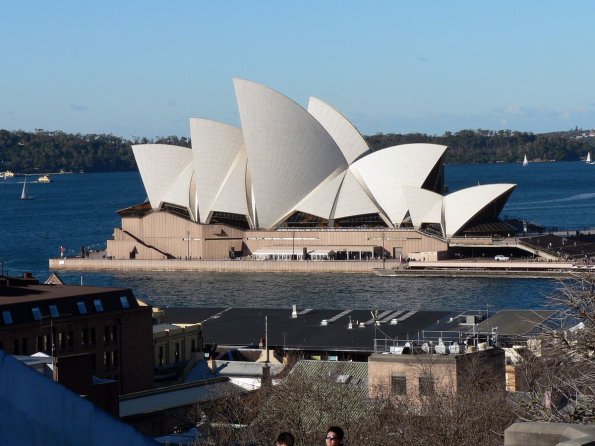
[[[339,111],[317,98],[310,98],[308,112],[335,140],[349,164],[370,152],[368,143],[355,126]]]

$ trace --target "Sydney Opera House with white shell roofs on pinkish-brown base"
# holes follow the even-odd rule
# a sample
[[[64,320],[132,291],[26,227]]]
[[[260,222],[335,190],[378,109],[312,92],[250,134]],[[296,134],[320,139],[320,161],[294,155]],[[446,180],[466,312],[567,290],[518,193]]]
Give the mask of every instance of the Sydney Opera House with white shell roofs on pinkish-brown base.
[[[148,200],[119,211],[110,258],[434,259],[503,227],[515,185],[445,194],[445,146],[372,151],[319,99],[233,83],[241,128],[192,118],[192,148],[133,146]]]

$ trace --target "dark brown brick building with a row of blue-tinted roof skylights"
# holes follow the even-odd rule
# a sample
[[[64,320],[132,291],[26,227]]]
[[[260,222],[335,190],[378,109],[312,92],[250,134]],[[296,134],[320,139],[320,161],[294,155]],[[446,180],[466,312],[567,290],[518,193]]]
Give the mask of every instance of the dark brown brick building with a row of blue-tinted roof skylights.
[[[119,393],[152,388],[151,307],[127,288],[40,285],[0,277],[0,349],[60,358],[89,354],[93,375]]]

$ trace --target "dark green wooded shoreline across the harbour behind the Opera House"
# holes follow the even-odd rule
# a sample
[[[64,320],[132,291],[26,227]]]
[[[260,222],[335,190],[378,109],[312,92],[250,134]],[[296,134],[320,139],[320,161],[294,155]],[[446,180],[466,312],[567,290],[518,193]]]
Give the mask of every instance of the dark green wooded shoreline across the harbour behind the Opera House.
[[[377,134],[366,136],[372,150],[397,144],[427,142],[448,146],[446,162],[451,164],[518,162],[523,156],[536,160],[578,160],[595,150],[595,138],[577,138],[573,132],[533,134],[510,130],[461,130],[442,136]],[[136,138],[128,140],[106,134],[70,134],[60,131],[35,132],[0,130],[0,171],[19,173],[107,172],[134,170],[132,144],[163,143],[190,147],[185,137]]]

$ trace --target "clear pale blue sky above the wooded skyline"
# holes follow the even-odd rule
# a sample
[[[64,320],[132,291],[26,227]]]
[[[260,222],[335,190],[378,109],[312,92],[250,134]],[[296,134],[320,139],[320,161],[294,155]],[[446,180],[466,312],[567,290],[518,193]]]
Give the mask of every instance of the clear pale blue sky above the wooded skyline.
[[[232,78],[364,134],[595,127],[593,1],[0,0],[0,128],[188,136]]]

